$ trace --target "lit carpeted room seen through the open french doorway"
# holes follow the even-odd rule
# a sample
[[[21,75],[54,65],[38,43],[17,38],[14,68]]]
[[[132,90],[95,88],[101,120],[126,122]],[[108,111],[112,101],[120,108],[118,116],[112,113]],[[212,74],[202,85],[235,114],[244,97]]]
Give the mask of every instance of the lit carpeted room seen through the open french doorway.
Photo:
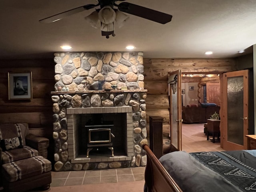
[[[198,150],[194,143],[207,140],[207,121],[220,114],[220,76],[219,74],[183,74],[182,75],[182,150]],[[186,136],[184,135],[186,134]],[[212,134],[208,136],[212,137]],[[215,137],[215,136],[214,136]],[[214,141],[215,142],[215,141]],[[220,140],[216,140],[220,147]],[[207,142],[209,143],[209,142]],[[205,144],[201,144],[205,146]],[[207,150],[207,149],[205,149]],[[205,151],[201,150],[201,151]],[[212,149],[213,150],[213,149]],[[212,151],[211,150],[211,151]]]

